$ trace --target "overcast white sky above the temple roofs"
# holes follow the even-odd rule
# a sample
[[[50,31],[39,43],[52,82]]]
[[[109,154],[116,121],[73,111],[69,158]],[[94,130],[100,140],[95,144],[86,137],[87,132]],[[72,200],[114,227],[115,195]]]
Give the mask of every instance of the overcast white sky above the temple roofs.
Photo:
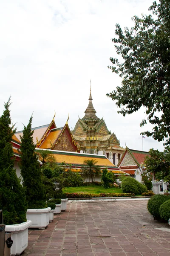
[[[104,116],[121,146],[142,150],[144,109],[130,116],[117,113],[106,97],[121,85],[107,68],[116,57],[111,38],[115,25],[133,26],[133,15],[149,14],[152,0],[0,0],[0,114],[11,95],[11,118],[17,130],[55,122],[74,128],[91,93],[96,115]],[[163,150],[163,143],[143,140],[144,151]]]

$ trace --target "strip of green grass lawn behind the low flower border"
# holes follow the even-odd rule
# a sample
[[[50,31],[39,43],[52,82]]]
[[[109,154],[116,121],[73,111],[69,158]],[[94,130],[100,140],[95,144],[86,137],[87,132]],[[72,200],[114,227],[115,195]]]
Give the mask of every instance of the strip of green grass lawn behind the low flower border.
[[[62,189],[65,193],[122,193],[122,189],[117,188],[108,188],[105,189],[103,186],[80,186],[80,187],[68,187],[65,189]]]

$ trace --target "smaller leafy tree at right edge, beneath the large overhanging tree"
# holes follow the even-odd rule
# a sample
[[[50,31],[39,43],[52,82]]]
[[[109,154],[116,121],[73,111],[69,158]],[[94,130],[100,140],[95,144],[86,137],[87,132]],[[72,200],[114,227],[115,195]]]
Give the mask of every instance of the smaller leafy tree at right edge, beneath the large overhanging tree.
[[[150,157],[144,161],[147,172],[155,173],[157,180],[164,180],[170,185],[170,147],[162,152],[151,148],[149,154]]]

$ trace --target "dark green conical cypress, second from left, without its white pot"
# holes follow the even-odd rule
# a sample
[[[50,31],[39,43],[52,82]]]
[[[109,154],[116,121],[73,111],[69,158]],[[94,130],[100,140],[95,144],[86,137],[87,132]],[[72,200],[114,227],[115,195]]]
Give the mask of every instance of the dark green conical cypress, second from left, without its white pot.
[[[21,175],[23,177],[23,187],[26,189],[26,201],[28,209],[46,208],[45,186],[42,184],[40,163],[37,161],[35,153],[36,145],[33,142],[31,130],[32,116],[27,126],[24,125],[23,137],[21,139]]]

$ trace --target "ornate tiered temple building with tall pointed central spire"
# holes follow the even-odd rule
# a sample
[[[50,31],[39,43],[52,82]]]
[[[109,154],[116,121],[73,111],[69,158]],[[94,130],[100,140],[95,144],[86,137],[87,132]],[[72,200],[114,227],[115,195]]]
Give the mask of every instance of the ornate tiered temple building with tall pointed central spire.
[[[120,147],[116,135],[108,131],[104,119],[99,119],[96,116],[92,100],[90,87],[85,116],[78,119],[72,131],[74,140],[81,153],[105,155],[113,164],[117,165],[125,149]]]

